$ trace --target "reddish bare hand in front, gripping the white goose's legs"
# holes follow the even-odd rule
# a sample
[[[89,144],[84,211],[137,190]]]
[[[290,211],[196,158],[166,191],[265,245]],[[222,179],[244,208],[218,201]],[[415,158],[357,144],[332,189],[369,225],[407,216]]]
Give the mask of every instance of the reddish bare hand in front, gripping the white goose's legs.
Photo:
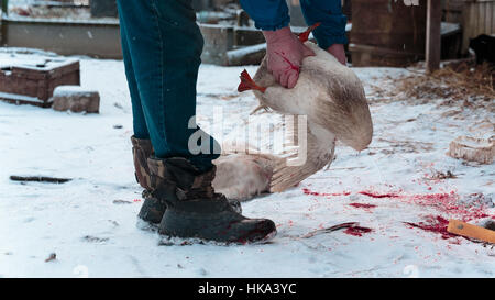
[[[275,80],[286,88],[294,88],[299,78],[302,58],[315,56],[315,52],[305,46],[290,29],[264,31],[268,70]]]

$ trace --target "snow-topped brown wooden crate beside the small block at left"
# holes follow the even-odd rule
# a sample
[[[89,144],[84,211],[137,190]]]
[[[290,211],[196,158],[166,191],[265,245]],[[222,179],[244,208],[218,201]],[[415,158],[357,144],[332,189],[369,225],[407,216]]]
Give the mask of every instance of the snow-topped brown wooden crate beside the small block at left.
[[[53,58],[0,69],[0,100],[7,102],[47,108],[53,90],[63,85],[80,85],[79,60]]]

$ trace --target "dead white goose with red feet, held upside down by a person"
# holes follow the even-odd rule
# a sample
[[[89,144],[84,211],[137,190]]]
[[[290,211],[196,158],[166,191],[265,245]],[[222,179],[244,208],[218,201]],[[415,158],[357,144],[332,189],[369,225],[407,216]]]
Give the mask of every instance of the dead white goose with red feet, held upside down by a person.
[[[316,44],[307,41],[305,45],[316,56],[304,58],[293,89],[275,81],[265,57],[253,79],[245,70],[241,74],[239,91],[253,90],[261,107],[279,114],[307,116],[306,162],[292,166],[287,164],[290,155],[284,157],[227,147],[215,162],[218,170],[213,186],[228,198],[245,200],[299,184],[331,163],[336,140],[356,151],[371,143],[373,124],[361,80]],[[300,131],[294,134],[298,138]]]

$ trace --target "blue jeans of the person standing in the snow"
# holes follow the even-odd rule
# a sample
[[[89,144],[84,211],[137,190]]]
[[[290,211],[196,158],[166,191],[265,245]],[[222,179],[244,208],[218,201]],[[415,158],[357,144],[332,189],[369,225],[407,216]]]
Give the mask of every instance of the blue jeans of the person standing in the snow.
[[[191,0],[117,2],[134,136],[150,138],[157,158],[186,157],[200,170],[210,169],[219,156],[217,142],[202,134],[209,152],[191,153],[188,146],[198,130],[188,124],[196,115],[204,46]]]

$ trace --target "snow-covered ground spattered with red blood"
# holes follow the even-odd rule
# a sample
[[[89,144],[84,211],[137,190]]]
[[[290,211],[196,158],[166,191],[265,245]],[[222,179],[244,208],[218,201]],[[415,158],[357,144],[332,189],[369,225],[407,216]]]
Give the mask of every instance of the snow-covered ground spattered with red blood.
[[[161,245],[157,233],[136,227],[143,200],[123,63],[80,63],[81,85],[100,91],[100,114],[0,102],[0,277],[495,277],[492,246],[442,234],[439,222],[495,216],[493,164],[444,154],[450,141],[476,131],[473,125],[494,122],[488,112],[452,113],[458,109],[435,99],[394,101],[372,86],[394,88],[389,77],[407,70],[355,68],[366,86],[374,140],[361,153],[339,145],[329,169],[244,202],[245,215],[277,224],[271,243]],[[257,103],[251,92],[237,92],[242,69],[201,66],[200,121],[210,120],[213,105],[223,108],[228,130],[248,119]],[[441,179],[447,171],[454,178]],[[11,175],[74,180],[20,184]],[[371,231],[304,237],[344,222]],[[53,253],[56,259],[45,262]]]

